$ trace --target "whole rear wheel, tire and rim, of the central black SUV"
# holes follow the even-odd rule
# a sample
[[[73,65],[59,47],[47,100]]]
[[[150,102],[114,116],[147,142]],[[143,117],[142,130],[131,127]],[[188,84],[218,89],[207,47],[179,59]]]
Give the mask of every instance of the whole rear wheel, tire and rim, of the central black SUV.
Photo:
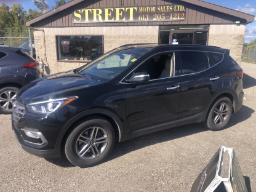
[[[230,98],[218,97],[210,108],[204,126],[210,130],[222,130],[230,121],[233,108]]]

